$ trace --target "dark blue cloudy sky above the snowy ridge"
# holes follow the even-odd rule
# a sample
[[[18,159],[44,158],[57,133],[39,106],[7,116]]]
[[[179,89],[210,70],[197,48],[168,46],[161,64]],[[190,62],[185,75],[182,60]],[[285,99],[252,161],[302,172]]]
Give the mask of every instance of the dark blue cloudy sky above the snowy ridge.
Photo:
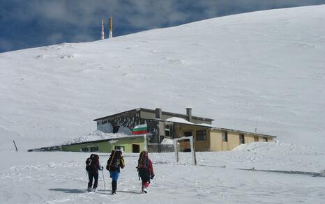
[[[0,0],[0,52],[99,40],[101,19],[107,21],[109,16],[114,19],[113,35],[121,36],[222,15],[324,3],[325,0]]]

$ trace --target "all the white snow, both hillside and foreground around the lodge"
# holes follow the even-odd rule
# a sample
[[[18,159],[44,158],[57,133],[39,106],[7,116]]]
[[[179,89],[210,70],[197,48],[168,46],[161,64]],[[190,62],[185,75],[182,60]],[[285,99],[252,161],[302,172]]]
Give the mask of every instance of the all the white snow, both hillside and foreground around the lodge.
[[[0,54],[0,203],[323,203],[324,23],[325,6],[308,6]],[[102,181],[85,193],[89,154],[26,152],[114,136],[93,132],[93,119],[138,107],[192,107],[214,127],[278,142],[197,152],[197,166],[190,153],[178,164],[173,152],[150,154],[146,195],[137,154],[125,155],[111,196]]]

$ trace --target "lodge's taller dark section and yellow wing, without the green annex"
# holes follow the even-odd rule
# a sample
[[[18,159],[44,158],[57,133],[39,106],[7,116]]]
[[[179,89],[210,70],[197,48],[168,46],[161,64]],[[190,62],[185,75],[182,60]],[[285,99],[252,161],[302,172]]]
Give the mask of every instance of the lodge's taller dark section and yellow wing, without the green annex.
[[[192,109],[186,109],[186,114],[171,113],[161,109],[132,109],[111,116],[94,119],[98,130],[103,126],[112,127],[113,133],[132,130],[136,125],[147,124],[151,134],[148,139],[150,152],[162,152],[170,146],[162,144],[164,139],[175,139],[181,136],[193,136],[196,151],[226,151],[232,150],[241,143],[254,141],[273,141],[276,136],[231,130],[212,125],[213,119],[192,116]],[[188,151],[190,144],[187,140],[180,141],[181,151]]]

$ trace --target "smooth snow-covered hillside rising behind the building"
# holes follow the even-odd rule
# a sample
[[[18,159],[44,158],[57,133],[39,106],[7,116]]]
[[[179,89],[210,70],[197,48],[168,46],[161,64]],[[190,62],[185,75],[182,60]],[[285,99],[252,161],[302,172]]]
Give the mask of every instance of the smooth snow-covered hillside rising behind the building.
[[[0,150],[75,139],[137,107],[324,146],[324,24],[310,6],[0,54]]]

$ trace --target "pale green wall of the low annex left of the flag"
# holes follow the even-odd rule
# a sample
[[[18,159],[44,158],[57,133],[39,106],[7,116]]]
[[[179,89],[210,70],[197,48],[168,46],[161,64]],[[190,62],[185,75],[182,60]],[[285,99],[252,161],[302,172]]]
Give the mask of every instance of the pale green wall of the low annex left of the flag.
[[[143,137],[136,138],[122,138],[116,139],[112,142],[110,141],[93,141],[89,143],[79,143],[79,144],[71,144],[68,146],[62,146],[62,150],[66,152],[82,152],[82,148],[89,148],[89,152],[91,152],[91,147],[98,146],[98,152],[111,152],[114,150],[114,146],[123,146],[124,152],[133,152],[133,144],[139,145],[139,151],[143,150],[144,139]]]

